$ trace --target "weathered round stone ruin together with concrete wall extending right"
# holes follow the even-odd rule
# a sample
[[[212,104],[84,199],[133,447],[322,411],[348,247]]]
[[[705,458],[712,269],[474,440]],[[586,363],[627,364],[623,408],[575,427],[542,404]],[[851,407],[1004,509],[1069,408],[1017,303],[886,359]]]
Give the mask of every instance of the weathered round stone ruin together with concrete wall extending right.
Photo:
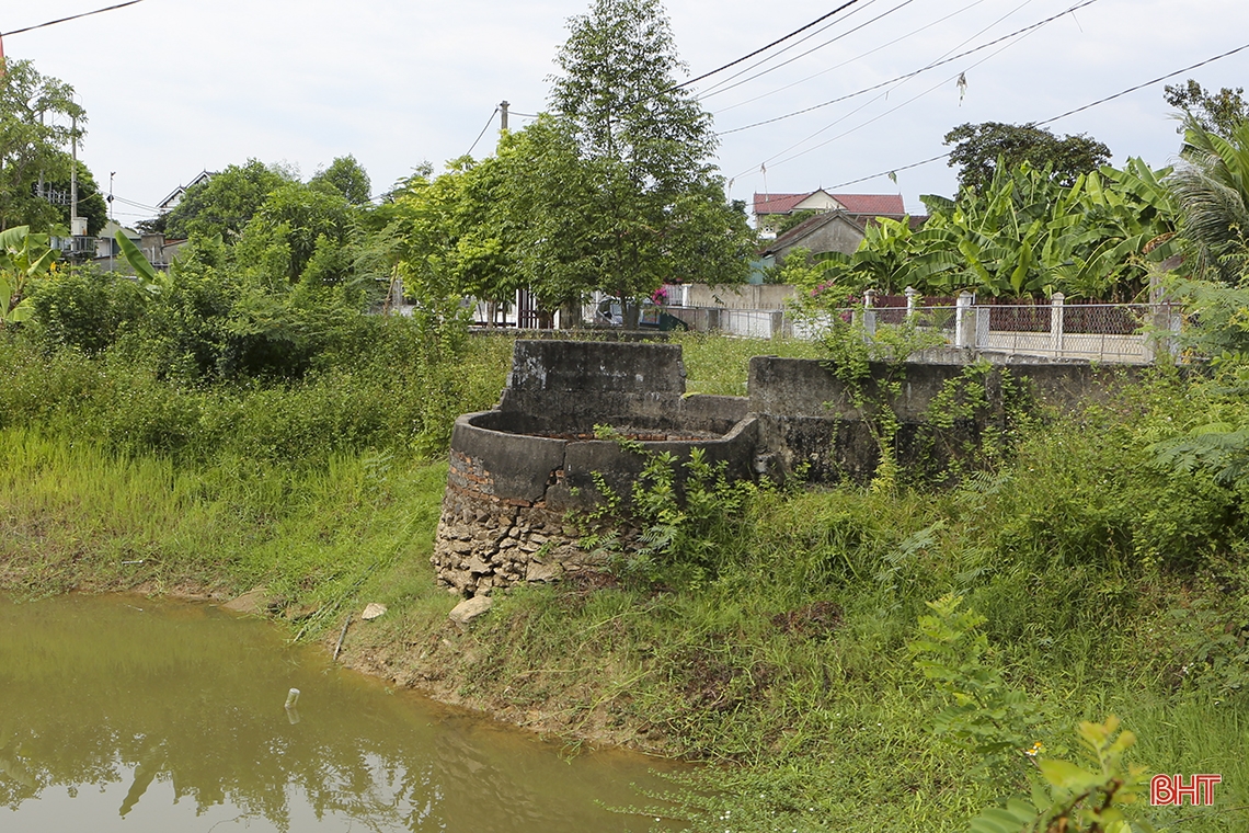
[[[933,402],[970,361],[947,351],[901,368],[901,395],[886,397],[898,367],[873,365],[867,398],[888,398],[901,421],[897,456],[916,463]],[[953,426],[959,442],[1005,427],[1003,385],[1025,380],[1032,396],[1067,406],[1104,391],[1119,371],[1088,363],[998,363],[982,373],[985,407]],[[748,396],[687,396],[681,347],[666,343],[517,341],[500,403],[466,413],[451,438],[451,468],[435,541],[438,583],[465,598],[521,582],[556,581],[601,568],[578,547],[573,522],[602,500],[600,483],[627,501],[644,460],[596,426],[641,442],[648,452],[688,460],[701,448],[729,480],[784,477],[811,483],[862,482],[878,463],[877,445],[847,386],[821,361],[757,356]],[[953,453],[953,452],[950,452]],[[679,466],[677,467],[679,488]],[[597,478],[597,482],[596,482]]]

